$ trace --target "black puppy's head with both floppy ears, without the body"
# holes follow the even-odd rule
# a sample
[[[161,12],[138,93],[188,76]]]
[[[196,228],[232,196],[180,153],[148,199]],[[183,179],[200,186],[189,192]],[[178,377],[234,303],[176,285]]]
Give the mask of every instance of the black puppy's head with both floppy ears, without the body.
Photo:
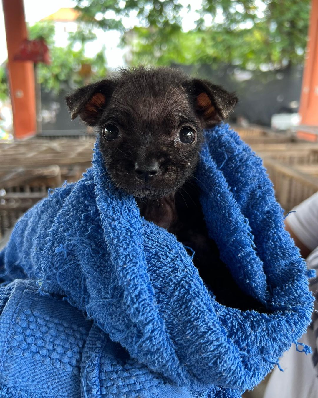
[[[158,198],[194,173],[202,130],[226,117],[237,98],[176,70],[139,68],[80,88],[66,101],[72,118],[79,114],[97,128],[116,187]]]

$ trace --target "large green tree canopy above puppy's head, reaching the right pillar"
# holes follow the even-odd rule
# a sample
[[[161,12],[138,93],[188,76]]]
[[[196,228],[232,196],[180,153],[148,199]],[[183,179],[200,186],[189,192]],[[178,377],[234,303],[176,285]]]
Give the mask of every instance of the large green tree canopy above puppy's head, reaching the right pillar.
[[[177,0],[76,1],[82,18],[124,32],[133,64],[226,63],[253,70],[304,59],[310,0],[198,0],[197,10],[188,6],[195,23],[184,30]],[[139,23],[127,32],[121,21],[132,13]]]

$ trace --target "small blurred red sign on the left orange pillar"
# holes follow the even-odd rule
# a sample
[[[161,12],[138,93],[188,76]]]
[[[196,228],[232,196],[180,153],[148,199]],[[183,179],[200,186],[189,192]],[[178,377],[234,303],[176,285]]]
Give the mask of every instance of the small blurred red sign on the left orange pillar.
[[[24,40],[19,52],[14,56],[15,61],[33,61],[35,64],[43,62],[50,64],[50,55],[44,39]]]

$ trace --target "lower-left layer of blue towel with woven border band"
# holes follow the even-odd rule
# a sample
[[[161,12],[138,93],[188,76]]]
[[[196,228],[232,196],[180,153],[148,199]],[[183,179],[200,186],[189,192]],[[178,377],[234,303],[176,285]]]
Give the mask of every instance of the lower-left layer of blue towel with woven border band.
[[[0,312],[0,397],[207,398],[130,359],[81,311],[40,296],[35,281],[0,288]]]

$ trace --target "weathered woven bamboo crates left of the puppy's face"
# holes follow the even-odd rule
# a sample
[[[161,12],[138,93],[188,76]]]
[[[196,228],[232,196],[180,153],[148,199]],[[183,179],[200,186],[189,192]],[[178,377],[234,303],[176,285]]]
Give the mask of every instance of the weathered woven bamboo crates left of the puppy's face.
[[[0,143],[0,240],[49,188],[81,178],[93,145],[93,138]]]

